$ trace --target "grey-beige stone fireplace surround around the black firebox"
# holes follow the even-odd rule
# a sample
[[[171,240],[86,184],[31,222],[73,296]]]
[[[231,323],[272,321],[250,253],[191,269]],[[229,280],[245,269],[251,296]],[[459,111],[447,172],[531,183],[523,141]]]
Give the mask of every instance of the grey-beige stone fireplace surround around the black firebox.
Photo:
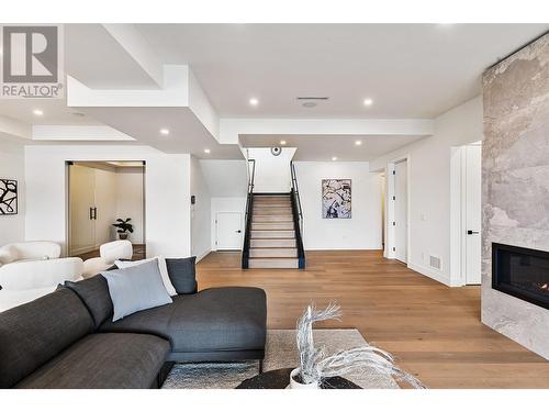
[[[549,252],[549,34],[483,75],[482,322],[549,359],[549,310],[492,287],[492,244]]]

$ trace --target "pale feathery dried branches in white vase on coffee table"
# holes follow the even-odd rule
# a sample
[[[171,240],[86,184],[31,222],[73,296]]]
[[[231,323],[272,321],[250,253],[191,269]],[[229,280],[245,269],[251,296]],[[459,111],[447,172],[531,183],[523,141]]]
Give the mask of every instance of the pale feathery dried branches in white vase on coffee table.
[[[410,383],[413,388],[425,388],[415,377],[394,365],[394,358],[388,352],[367,345],[341,350],[326,356],[323,347],[315,347],[313,324],[330,319],[340,319],[340,308],[330,303],[324,310],[309,305],[298,320],[296,343],[300,354],[300,370],[296,377],[301,385],[320,388],[323,379],[350,372],[374,370],[393,376],[399,381]]]

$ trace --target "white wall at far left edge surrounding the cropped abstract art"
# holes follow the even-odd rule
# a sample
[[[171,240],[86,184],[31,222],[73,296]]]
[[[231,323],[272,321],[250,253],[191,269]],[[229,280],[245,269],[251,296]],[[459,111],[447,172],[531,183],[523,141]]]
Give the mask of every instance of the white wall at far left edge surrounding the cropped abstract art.
[[[0,216],[0,246],[22,242],[25,233],[24,147],[0,136],[0,178],[18,180],[18,214]]]

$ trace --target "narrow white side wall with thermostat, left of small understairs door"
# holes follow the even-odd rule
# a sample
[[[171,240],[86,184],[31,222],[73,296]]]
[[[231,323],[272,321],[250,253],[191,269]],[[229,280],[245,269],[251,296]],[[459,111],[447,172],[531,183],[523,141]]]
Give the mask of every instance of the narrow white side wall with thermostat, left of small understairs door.
[[[191,254],[200,260],[211,250],[211,198],[201,163],[194,156],[191,156],[191,196],[195,198],[191,204]]]

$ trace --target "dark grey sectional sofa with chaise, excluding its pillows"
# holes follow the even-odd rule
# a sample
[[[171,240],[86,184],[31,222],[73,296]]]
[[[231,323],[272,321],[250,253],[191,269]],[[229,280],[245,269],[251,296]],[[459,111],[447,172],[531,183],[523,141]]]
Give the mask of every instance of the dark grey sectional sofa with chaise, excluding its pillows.
[[[154,388],[173,361],[261,360],[266,318],[264,290],[229,287],[112,322],[102,276],[67,282],[0,313],[0,388]]]

